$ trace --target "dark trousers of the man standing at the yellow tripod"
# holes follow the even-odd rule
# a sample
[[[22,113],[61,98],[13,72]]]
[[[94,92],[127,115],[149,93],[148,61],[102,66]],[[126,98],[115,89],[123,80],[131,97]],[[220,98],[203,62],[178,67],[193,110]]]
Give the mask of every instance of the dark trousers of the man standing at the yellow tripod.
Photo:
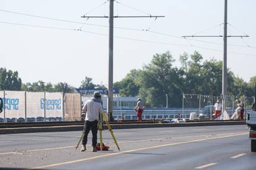
[[[90,129],[92,130],[92,146],[96,147],[97,144],[97,132],[98,132],[98,121],[85,121],[85,135],[83,136],[82,144],[87,144],[87,137]]]

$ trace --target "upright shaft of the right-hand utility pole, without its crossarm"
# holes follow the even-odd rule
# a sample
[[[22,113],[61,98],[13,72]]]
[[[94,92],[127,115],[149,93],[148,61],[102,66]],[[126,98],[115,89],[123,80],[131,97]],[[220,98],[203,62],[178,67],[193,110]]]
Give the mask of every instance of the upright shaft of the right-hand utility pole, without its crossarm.
[[[226,99],[227,99],[227,27],[228,27],[228,0],[224,0],[224,35],[223,35],[223,63],[222,63],[222,111],[226,109]]]

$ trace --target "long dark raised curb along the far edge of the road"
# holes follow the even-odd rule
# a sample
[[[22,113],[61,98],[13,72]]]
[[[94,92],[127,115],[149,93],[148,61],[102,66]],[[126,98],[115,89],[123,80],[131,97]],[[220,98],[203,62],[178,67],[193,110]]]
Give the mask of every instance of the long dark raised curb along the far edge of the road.
[[[190,126],[227,126],[227,125],[243,125],[245,121],[214,121],[200,123],[147,123],[147,124],[111,124],[113,129],[135,129],[150,127],[190,127]],[[32,132],[66,132],[66,131],[82,131],[83,125],[66,125],[66,126],[41,126],[41,127],[11,127],[0,128],[0,134],[17,134]],[[106,129],[106,127],[105,127]]]

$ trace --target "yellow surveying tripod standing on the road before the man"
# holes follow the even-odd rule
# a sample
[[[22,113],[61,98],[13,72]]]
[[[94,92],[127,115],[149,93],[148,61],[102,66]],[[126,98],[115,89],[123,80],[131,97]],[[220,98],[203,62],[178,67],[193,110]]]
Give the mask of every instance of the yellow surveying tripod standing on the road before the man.
[[[108,114],[108,113],[101,113],[100,114],[100,118],[99,118],[99,122],[98,122],[98,130],[100,132],[100,150],[102,151],[102,148],[103,148],[102,131],[103,131],[103,124],[104,124],[104,121],[105,121],[106,127],[108,128],[108,131],[110,132],[110,134],[111,134],[111,136],[112,136],[112,138],[114,140],[114,144],[116,144],[117,149],[120,151],[119,145],[117,144],[116,137],[114,137],[112,128],[109,125],[108,118],[106,117],[106,114]],[[79,147],[79,144],[80,144],[83,136],[84,136],[84,129],[82,131],[82,136],[80,137],[79,142],[75,146],[75,150],[77,150],[77,148]]]

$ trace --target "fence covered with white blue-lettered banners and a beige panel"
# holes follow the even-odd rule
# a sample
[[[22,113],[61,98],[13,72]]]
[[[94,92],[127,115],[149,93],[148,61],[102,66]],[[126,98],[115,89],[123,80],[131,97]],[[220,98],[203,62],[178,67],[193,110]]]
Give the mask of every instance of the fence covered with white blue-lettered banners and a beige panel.
[[[0,91],[0,123],[80,120],[80,94]]]

